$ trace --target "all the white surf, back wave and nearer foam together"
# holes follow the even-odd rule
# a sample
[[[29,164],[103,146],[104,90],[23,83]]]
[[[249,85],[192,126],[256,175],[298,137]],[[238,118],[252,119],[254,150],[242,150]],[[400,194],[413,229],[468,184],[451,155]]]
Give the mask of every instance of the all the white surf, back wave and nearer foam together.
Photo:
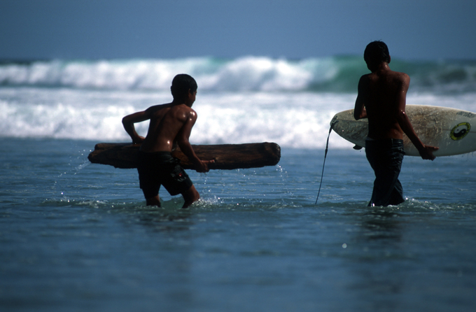
[[[407,104],[476,111],[476,62],[407,62]],[[130,141],[121,118],[172,100],[177,73],[198,84],[196,144],[273,141],[283,148],[323,148],[332,116],[353,108],[362,57],[300,60],[51,60],[0,62],[0,137]],[[145,135],[147,124],[137,125]],[[330,146],[352,145],[331,136]]]

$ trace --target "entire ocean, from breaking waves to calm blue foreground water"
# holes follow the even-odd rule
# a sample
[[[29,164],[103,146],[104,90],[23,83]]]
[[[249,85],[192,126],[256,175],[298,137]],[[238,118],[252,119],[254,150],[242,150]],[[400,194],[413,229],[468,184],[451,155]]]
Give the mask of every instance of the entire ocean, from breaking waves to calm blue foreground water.
[[[407,104],[476,112],[476,62],[404,62]],[[199,85],[196,144],[272,141],[276,166],[188,171],[202,199],[147,207],[137,171],[90,164],[120,119]],[[476,155],[405,157],[407,201],[337,134],[361,57],[0,65],[1,311],[474,311]],[[145,134],[147,125],[137,127]]]

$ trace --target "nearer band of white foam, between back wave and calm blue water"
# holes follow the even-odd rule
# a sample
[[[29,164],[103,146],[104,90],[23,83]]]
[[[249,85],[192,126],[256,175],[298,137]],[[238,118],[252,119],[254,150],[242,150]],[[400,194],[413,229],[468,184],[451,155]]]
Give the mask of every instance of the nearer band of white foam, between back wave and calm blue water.
[[[288,148],[324,148],[335,113],[353,108],[356,94],[203,92],[190,141],[195,144],[272,141]],[[169,92],[139,90],[0,89],[0,136],[130,141],[121,119],[172,100]],[[475,111],[474,94],[412,94],[407,104]],[[146,135],[148,122],[137,124]],[[352,144],[332,133],[330,147]]]

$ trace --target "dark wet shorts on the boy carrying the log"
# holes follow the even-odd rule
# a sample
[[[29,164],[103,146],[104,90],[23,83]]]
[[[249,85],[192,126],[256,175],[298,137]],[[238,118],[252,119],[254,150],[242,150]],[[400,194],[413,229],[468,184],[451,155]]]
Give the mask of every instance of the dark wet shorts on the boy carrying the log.
[[[180,165],[180,160],[169,152],[146,153],[139,151],[139,183],[146,199],[159,194],[164,185],[169,194],[175,196],[192,187],[192,180]]]

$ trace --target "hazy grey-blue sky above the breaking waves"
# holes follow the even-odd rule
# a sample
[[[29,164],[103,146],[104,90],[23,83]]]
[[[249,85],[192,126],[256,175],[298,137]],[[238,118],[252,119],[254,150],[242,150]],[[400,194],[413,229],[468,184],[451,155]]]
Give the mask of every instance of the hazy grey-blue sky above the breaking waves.
[[[1,59],[476,59],[474,0],[0,0]]]

